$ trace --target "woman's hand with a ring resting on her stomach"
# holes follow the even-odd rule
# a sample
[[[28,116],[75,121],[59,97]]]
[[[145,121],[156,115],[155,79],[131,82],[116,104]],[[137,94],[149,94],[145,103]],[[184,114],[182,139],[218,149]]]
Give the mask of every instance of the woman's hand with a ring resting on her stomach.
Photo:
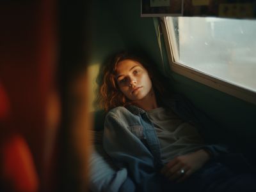
[[[209,152],[200,149],[196,152],[176,157],[162,168],[161,174],[164,174],[171,181],[181,182],[196,170],[202,168],[209,159]]]

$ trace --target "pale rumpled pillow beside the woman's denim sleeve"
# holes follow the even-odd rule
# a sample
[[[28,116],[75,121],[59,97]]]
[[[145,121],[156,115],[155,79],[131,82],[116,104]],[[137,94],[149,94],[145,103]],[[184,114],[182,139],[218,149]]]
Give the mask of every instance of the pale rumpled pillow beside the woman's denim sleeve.
[[[135,191],[134,184],[127,177],[127,169],[119,169],[104,151],[103,131],[94,131],[94,145],[89,160],[90,190],[93,192]]]

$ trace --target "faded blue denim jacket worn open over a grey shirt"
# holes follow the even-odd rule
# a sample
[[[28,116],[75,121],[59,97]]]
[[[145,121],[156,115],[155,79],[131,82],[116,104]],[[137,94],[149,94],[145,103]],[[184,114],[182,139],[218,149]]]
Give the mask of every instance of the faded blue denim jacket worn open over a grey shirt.
[[[173,96],[164,101],[183,121],[189,122],[205,135],[216,128],[204,113],[182,96]],[[147,112],[133,105],[116,107],[108,112],[105,119],[103,145],[105,151],[120,168],[127,168],[138,191],[159,191],[161,181],[159,170],[163,166],[156,130]],[[221,145],[205,144],[212,158],[227,153]]]

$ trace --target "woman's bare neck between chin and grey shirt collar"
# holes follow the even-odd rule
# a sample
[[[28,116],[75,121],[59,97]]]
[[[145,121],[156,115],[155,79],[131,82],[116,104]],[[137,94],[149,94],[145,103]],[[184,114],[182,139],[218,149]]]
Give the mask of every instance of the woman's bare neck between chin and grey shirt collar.
[[[154,89],[152,89],[147,96],[145,96],[142,100],[138,100],[134,102],[135,105],[142,108],[143,110],[152,110],[154,108],[157,108],[157,101],[156,101],[156,94],[154,92]]]

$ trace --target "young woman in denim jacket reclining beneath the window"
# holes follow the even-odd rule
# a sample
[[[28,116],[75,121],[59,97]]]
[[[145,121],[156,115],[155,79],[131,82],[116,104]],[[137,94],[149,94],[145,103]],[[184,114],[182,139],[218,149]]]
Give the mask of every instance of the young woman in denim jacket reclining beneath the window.
[[[136,191],[255,191],[254,175],[222,165],[227,149],[205,142],[214,122],[171,94],[150,63],[122,52],[103,72],[104,149]]]

